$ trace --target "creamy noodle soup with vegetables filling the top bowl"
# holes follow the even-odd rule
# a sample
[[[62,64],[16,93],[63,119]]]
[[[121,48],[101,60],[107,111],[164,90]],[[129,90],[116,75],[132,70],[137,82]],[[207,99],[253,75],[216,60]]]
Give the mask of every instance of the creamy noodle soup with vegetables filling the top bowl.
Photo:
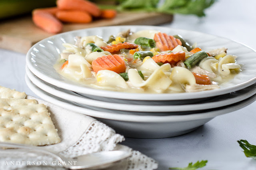
[[[194,54],[193,50],[188,51],[186,47],[182,46],[183,44],[178,38],[168,35],[176,42],[173,42],[174,48],[166,50],[155,34],[162,35],[156,30],[126,32],[126,36],[118,34],[121,36],[112,37],[108,43],[107,40],[98,36],[76,38],[76,44],[64,44],[66,49],[60,54],[54,68],[65,78],[84,86],[134,93],[213,90],[220,88],[222,84],[240,72],[240,65],[236,64],[236,56],[227,55],[225,48],[209,52],[214,56],[206,54],[203,50]],[[145,41],[138,42],[138,39],[147,40],[148,47],[147,44],[143,44]],[[130,46],[136,46],[136,48],[122,48],[115,52],[106,50],[109,46],[112,48],[115,44],[124,44],[125,42],[132,44],[129,44],[129,48]],[[155,44],[153,43],[151,46],[150,42]],[[88,43],[91,44],[88,45]],[[100,44],[100,46],[95,46],[95,44]],[[93,52],[96,47],[102,48],[104,51],[100,49]],[[135,54],[140,56],[137,57]],[[99,58],[109,58],[109,55],[111,57],[118,55],[118,60],[123,60],[125,67],[122,72],[108,69],[96,70],[95,61],[98,61]],[[193,57],[198,60],[196,64],[192,60]],[[66,60],[68,62],[65,62]],[[112,60],[110,61],[112,62]],[[113,60],[113,62],[115,61]],[[194,65],[190,66],[190,64]],[[116,69],[114,67],[116,65],[113,66],[113,69]],[[110,69],[112,68],[110,67]]]

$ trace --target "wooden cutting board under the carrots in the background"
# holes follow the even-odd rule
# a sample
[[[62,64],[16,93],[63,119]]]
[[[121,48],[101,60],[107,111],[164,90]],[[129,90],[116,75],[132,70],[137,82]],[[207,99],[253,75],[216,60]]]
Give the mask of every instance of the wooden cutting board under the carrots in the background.
[[[170,23],[172,15],[146,12],[122,12],[114,19],[95,20],[89,24],[64,24],[63,32],[113,25],[159,25]],[[26,54],[36,42],[52,36],[37,28],[31,16],[0,22],[0,48]]]

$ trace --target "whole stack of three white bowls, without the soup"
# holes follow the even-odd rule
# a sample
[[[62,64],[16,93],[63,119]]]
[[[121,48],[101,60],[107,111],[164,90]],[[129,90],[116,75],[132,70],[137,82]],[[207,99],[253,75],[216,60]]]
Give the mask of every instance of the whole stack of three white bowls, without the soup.
[[[76,36],[110,35],[131,29],[181,34],[208,51],[228,48],[242,72],[216,90],[176,94],[136,94],[90,88],[58,74],[54,64]],[[134,138],[167,138],[191,132],[212,118],[256,100],[256,51],[238,42],[200,32],[156,26],[111,26],[66,32],[35,44],[26,56],[26,83],[40,98],[92,116],[118,133]],[[79,121],[79,120],[78,120]]]

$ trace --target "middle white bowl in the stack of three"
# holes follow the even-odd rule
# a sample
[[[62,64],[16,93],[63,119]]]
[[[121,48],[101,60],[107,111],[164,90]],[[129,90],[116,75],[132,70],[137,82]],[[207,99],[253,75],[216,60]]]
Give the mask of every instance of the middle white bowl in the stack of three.
[[[176,114],[185,114],[180,112],[206,110],[210,108],[222,107],[222,106],[230,105],[236,102],[240,102],[256,94],[256,84],[253,84],[242,90],[232,92],[229,94],[224,94],[217,97],[213,97],[211,100],[206,100],[204,102],[200,102],[196,104],[162,105],[162,102],[160,101],[156,101],[155,105],[138,105],[138,104],[129,104],[129,103],[119,104],[119,103],[112,102],[111,98],[108,100],[108,102],[93,100],[90,98],[86,98],[84,96],[80,96],[79,94],[76,94],[70,90],[65,90],[65,89],[53,86],[52,84],[44,82],[43,80],[36,77],[28,69],[28,67],[26,67],[26,74],[28,78],[36,86],[38,86],[42,90],[54,96],[57,96],[59,98],[62,98],[64,100],[68,100],[71,102],[76,102],[86,108],[91,108],[94,110],[105,111],[105,112],[112,112],[112,113],[113,112],[122,113],[122,114],[143,114],[143,112],[146,112],[144,114],[150,114],[150,115],[152,115],[152,113],[148,113],[148,112],[154,112],[154,115],[158,115],[158,114],[163,115],[163,113],[160,113],[160,112],[177,112]],[[120,110],[123,110],[123,111],[120,111]],[[191,113],[191,112],[188,112],[188,113]]]

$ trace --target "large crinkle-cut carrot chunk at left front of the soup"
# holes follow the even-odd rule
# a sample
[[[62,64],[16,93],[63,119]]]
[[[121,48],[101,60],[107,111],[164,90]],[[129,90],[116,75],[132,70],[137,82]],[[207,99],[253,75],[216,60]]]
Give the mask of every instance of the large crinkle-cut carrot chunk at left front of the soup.
[[[116,73],[121,73],[125,72],[126,65],[124,63],[124,59],[121,56],[114,54],[93,60],[92,69],[94,72],[98,72],[100,70],[111,70]]]

